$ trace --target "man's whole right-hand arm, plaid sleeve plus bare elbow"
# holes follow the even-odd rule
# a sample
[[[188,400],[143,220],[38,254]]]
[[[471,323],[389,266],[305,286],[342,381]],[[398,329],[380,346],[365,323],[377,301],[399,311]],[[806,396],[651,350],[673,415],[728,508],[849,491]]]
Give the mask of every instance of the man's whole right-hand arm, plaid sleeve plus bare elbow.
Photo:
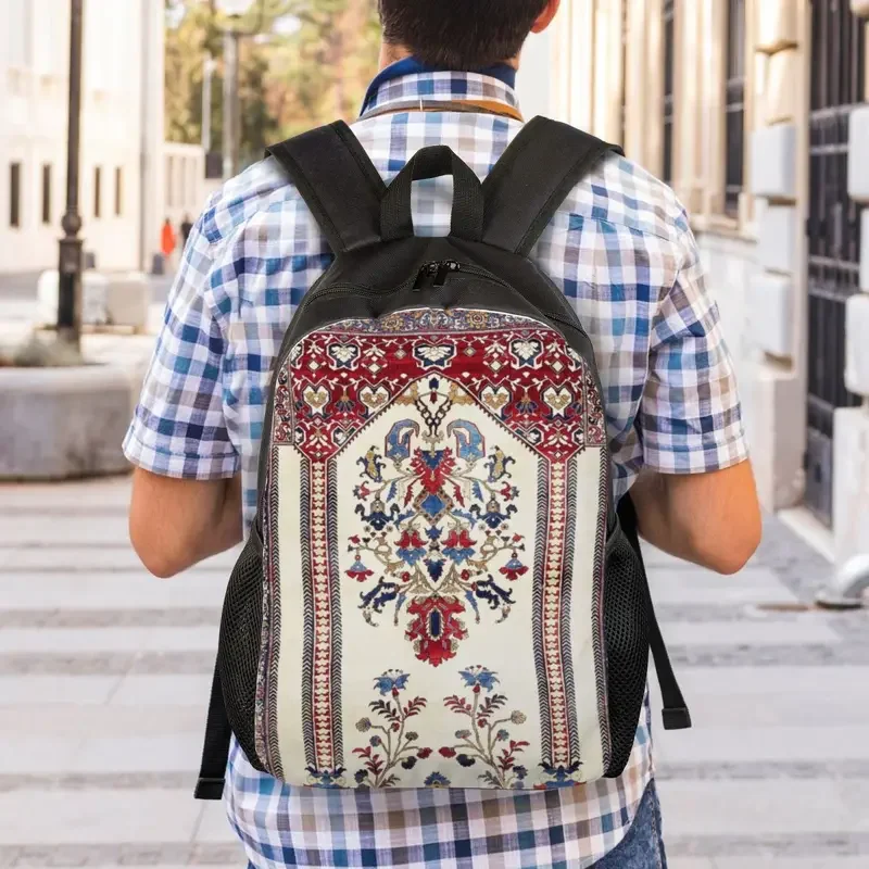
[[[684,211],[679,264],[652,323],[638,415],[640,533],[680,558],[734,574],[760,541],[760,507],[733,364]]]

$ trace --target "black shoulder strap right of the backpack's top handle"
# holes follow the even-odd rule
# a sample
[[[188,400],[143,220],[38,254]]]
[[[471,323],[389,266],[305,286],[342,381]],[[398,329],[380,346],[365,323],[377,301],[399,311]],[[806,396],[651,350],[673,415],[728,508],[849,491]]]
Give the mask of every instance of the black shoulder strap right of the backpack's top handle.
[[[610,151],[624,155],[567,124],[530,121],[483,181],[483,241],[527,256],[568,193]]]

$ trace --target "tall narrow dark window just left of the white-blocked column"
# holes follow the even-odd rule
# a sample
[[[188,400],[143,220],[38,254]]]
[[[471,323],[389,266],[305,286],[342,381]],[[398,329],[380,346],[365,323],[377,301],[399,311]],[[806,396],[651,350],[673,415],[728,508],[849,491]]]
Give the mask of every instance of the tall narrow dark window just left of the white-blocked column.
[[[745,0],[728,0],[725,211],[739,215],[745,178]]]

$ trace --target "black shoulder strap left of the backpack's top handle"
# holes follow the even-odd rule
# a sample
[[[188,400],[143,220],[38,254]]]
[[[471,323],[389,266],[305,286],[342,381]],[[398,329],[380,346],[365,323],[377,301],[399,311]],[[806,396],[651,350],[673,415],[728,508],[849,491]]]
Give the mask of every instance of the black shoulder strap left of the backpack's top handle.
[[[336,255],[380,241],[387,188],[343,121],[272,146],[266,154],[290,176]]]

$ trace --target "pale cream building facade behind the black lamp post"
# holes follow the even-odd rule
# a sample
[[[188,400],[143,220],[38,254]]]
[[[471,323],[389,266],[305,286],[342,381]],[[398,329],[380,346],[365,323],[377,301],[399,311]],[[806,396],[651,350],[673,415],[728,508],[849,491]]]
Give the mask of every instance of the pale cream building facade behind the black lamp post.
[[[85,0],[79,212],[101,269],[140,268],[163,219],[163,0]],[[0,272],[56,267],[66,199],[68,0],[4,0]]]

